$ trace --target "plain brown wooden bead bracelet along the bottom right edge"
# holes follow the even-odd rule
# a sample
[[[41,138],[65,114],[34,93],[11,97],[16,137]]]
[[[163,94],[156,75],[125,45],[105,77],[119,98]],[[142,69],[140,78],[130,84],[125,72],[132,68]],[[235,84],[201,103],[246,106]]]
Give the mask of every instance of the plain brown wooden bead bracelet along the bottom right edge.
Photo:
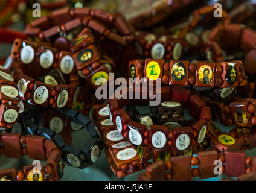
[[[216,160],[220,160],[220,167],[214,163]],[[256,157],[246,157],[245,150],[227,150],[220,155],[217,151],[202,151],[197,153],[197,157],[177,156],[165,162],[153,163],[146,167],[146,172],[139,174],[138,180],[189,181],[192,177],[206,179],[218,176],[218,173],[214,174],[216,167],[218,173],[238,177],[238,180],[255,180],[256,177]]]

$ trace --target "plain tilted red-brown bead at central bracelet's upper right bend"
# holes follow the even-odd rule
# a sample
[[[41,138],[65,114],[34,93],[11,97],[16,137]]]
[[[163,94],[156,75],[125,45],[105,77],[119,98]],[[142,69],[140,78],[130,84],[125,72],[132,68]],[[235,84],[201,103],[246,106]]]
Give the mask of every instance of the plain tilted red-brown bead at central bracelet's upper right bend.
[[[190,96],[190,109],[188,112],[194,119],[199,118],[203,106],[206,106],[206,103],[198,95]]]

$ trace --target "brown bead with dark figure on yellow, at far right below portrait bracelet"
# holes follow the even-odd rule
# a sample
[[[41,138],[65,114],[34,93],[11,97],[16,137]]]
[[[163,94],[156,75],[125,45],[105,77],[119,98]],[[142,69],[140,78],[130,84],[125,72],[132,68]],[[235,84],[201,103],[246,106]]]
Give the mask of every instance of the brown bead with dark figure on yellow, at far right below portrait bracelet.
[[[232,102],[229,104],[232,119],[237,127],[251,127],[251,114],[247,111],[248,102]]]

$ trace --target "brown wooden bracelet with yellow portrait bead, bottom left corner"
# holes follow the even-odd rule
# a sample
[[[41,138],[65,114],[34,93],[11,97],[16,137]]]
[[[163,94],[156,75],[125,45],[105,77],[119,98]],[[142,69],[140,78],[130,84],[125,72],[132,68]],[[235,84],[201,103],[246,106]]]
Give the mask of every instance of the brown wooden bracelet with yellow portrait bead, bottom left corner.
[[[64,164],[61,151],[54,142],[42,136],[21,136],[19,133],[4,133],[1,135],[1,155],[10,158],[21,158],[28,155],[30,159],[47,160],[47,165],[33,169],[38,165],[27,165],[23,171],[15,168],[1,169],[1,181],[58,181],[63,175]],[[25,146],[24,146],[25,145]]]

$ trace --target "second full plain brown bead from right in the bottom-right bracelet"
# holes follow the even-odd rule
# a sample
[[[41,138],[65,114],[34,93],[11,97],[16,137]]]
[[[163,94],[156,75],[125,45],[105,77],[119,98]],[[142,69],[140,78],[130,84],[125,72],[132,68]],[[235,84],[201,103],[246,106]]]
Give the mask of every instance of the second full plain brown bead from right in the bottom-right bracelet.
[[[214,174],[214,161],[218,160],[218,153],[217,151],[202,151],[198,153],[199,159],[199,178],[206,179],[209,177],[216,177],[217,175]]]

